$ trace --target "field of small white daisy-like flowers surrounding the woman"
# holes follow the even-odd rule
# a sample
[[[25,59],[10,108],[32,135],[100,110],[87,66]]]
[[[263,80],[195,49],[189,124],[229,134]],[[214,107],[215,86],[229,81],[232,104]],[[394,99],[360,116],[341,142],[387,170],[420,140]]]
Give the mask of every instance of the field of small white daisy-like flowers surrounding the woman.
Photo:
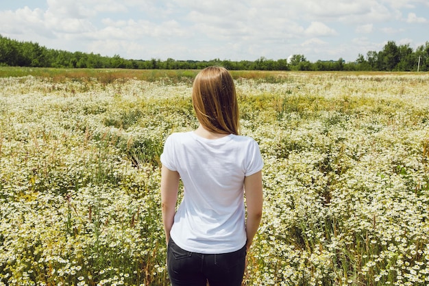
[[[265,160],[245,285],[429,285],[429,75],[233,73]],[[0,285],[169,285],[188,75],[0,78]]]

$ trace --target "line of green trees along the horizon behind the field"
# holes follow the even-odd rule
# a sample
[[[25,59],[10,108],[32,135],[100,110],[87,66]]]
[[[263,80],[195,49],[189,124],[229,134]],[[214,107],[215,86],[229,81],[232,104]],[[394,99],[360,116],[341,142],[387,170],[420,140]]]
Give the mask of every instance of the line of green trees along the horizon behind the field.
[[[133,69],[201,69],[207,66],[224,66],[229,70],[373,70],[373,71],[428,71],[429,42],[415,51],[410,44],[389,41],[382,51],[359,54],[356,61],[339,60],[310,62],[304,55],[288,59],[269,60],[260,57],[255,61],[230,60],[126,60],[95,53],[70,52],[47,49],[36,42],[20,42],[0,35],[0,66],[28,66],[42,68],[133,68]]]

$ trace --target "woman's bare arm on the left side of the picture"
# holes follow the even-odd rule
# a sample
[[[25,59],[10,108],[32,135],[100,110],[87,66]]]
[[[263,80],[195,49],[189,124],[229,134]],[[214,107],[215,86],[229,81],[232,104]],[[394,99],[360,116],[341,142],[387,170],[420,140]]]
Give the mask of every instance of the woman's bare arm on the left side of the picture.
[[[171,226],[174,222],[177,192],[179,191],[180,175],[167,167],[161,168],[161,207],[164,223],[165,241],[169,244]]]

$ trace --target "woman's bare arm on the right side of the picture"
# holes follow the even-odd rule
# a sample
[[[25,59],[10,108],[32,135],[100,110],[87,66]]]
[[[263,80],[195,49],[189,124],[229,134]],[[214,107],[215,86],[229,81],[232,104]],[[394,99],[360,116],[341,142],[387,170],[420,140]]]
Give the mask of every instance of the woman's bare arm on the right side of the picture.
[[[246,219],[246,247],[249,250],[253,242],[256,231],[262,218],[262,172],[245,177],[244,188],[246,196],[247,219]]]

